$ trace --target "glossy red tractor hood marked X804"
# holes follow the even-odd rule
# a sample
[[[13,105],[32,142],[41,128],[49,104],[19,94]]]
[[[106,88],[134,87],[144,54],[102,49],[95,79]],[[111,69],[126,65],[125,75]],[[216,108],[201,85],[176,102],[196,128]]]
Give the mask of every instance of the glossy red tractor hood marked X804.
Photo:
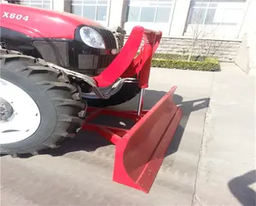
[[[75,14],[19,4],[0,3],[0,12],[1,27],[28,37],[73,39],[78,26],[102,26]]]

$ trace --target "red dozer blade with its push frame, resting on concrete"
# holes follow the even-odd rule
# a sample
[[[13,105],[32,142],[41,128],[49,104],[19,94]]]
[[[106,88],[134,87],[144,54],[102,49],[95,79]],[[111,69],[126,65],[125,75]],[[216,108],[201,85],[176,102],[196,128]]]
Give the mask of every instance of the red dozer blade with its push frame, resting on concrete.
[[[143,111],[141,118],[129,130],[84,124],[84,129],[102,134],[116,146],[113,181],[146,193],[150,191],[182,118],[181,109],[173,102],[176,89],[173,87],[152,109]],[[89,110],[94,111],[91,108]],[[137,118],[137,112],[95,110],[91,117],[108,114]]]

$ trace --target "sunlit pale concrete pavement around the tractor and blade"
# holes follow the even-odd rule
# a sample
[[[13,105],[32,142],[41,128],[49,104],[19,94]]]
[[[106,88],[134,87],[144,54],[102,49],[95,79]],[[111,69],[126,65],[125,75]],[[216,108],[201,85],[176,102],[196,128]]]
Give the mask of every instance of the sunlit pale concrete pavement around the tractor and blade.
[[[255,205],[254,77],[234,65],[222,68],[152,70],[145,108],[177,85],[183,119],[148,194],[114,183],[114,146],[80,132],[48,154],[1,157],[1,206]],[[136,109],[136,103],[118,109]]]

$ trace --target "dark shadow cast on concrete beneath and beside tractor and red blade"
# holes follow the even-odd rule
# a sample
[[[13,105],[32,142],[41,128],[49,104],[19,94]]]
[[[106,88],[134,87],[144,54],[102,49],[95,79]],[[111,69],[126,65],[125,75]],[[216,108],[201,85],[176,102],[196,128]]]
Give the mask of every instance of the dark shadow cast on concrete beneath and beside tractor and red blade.
[[[156,90],[147,90],[144,97],[144,106],[145,110],[150,109],[153,107],[164,95],[166,94],[165,91],[156,91]],[[138,98],[138,97],[137,97]],[[128,103],[125,103],[122,106],[116,106],[116,108],[122,110],[131,110],[137,109],[137,98],[131,100]],[[209,98],[200,99],[200,100],[189,100],[183,101],[183,97],[177,94],[173,96],[174,102],[177,106],[181,106],[183,110],[183,118],[180,125],[177,128],[177,131],[173,137],[172,144],[168,148],[166,152],[166,156],[172,155],[172,153],[177,152],[178,146],[183,137],[184,129],[189,121],[189,116],[191,112],[195,112],[201,109],[207,108],[209,104]],[[132,108],[131,108],[132,107]],[[125,122],[125,129],[130,129],[133,126],[131,121],[125,121],[124,119],[120,118],[113,118],[113,117],[101,117],[96,119],[95,123],[100,124],[107,124],[108,126],[113,127],[120,127],[120,123]],[[123,125],[123,124],[122,124]],[[124,127],[124,126],[121,126]],[[79,151],[86,151],[86,152],[93,152],[96,151],[97,148],[102,146],[109,146],[110,143],[108,140],[105,140],[98,134],[87,132],[87,131],[79,131],[76,137],[73,140],[67,140],[67,142],[62,143],[61,147],[56,149],[50,149],[44,151],[43,154],[49,154],[51,156],[62,156],[69,152],[79,152]],[[21,157],[30,157],[28,155],[22,155]]]

